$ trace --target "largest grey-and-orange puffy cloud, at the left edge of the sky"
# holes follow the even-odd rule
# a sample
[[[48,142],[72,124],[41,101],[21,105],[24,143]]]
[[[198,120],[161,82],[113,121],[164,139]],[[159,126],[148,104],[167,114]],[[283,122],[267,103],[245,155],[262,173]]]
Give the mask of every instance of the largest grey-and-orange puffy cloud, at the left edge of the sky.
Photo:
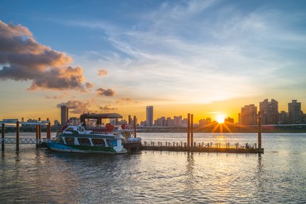
[[[69,67],[72,58],[33,38],[28,28],[0,21],[0,79],[31,80],[28,90],[77,89],[84,91],[81,67]]]

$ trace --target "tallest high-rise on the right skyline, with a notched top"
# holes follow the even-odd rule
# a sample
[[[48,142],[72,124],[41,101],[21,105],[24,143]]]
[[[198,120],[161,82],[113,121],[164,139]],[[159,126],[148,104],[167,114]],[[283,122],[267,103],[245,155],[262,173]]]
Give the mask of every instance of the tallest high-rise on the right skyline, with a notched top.
[[[278,101],[268,99],[259,103],[259,111],[261,111],[261,125],[277,125],[278,124]]]

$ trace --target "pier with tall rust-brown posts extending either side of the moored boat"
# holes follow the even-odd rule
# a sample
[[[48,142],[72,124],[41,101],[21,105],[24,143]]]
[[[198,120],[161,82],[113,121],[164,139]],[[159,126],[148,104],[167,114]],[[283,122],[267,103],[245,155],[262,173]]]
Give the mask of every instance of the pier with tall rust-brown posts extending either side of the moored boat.
[[[257,143],[240,145],[238,142],[234,144],[217,143],[204,143],[204,142],[193,142],[193,114],[188,113],[187,120],[187,138],[186,142],[125,142],[124,147],[128,149],[128,152],[140,151],[140,150],[152,150],[152,151],[174,151],[174,152],[225,152],[225,153],[263,153],[264,149],[261,147],[261,114],[259,111],[258,117],[258,137]],[[137,123],[136,116],[134,116],[134,137],[136,137]],[[131,123],[131,117],[128,118],[129,124]],[[40,120],[38,122],[28,123],[14,121],[0,121],[1,124],[1,150],[4,151],[5,144],[16,144],[16,151],[19,151],[20,144],[35,144],[36,147],[42,147],[44,142],[51,140],[51,125],[50,120]],[[5,124],[14,125],[16,127],[16,138],[5,138]],[[19,135],[20,125],[36,125],[35,139],[33,138],[22,138]],[[16,125],[16,126],[15,126]],[[41,138],[41,126],[47,125],[47,138]]]

